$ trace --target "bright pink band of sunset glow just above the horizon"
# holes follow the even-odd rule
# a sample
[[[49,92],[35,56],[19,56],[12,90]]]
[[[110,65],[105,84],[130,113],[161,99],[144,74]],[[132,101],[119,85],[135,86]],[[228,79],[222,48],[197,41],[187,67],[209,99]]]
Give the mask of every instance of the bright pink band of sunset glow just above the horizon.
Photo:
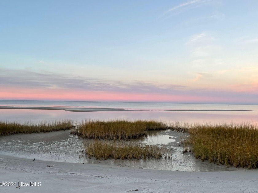
[[[221,96],[211,96],[213,93],[203,92],[203,96],[193,95],[191,91],[178,94],[168,93],[143,93],[143,92],[117,92],[117,91],[83,91],[76,89],[12,89],[1,88],[6,92],[1,93],[3,100],[72,100],[72,101],[125,101],[125,102],[179,102],[179,103],[225,103],[225,97],[231,95],[230,103],[241,103],[241,97],[234,93],[221,91]],[[250,102],[255,99],[250,98]]]

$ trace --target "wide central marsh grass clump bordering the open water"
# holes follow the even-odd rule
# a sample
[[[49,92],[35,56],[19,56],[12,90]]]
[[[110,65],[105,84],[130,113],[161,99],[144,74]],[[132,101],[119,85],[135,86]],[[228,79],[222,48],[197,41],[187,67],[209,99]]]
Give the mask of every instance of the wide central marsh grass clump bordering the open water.
[[[106,139],[106,140],[129,140],[139,138],[147,134],[148,130],[165,130],[166,123],[152,120],[111,120],[97,121],[88,120],[81,123],[72,134],[78,134],[82,138]]]

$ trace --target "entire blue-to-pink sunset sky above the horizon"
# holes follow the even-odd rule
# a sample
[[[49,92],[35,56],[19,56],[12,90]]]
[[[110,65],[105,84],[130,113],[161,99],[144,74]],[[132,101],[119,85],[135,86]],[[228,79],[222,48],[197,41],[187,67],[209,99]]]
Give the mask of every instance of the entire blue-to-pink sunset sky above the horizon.
[[[258,104],[258,1],[0,2],[0,100]]]

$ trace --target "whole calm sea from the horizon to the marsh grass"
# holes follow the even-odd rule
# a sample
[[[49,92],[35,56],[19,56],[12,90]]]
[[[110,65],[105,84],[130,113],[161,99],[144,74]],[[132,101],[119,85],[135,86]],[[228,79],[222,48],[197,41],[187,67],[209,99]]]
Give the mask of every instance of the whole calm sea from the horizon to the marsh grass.
[[[1,121],[52,121],[57,119],[156,119],[168,123],[258,123],[258,105],[236,104],[175,104],[130,102],[78,102],[0,100],[0,106],[11,107],[69,107],[69,108],[124,108],[141,111],[67,112],[63,110],[0,109]],[[250,111],[167,111],[167,110],[250,110]]]

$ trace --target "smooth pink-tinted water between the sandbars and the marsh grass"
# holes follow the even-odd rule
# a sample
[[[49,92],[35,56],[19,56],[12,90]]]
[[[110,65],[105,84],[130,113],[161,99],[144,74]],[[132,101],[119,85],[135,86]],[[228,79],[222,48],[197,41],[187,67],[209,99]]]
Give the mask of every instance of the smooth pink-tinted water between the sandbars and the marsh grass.
[[[171,123],[215,123],[215,122],[252,122],[258,123],[256,111],[250,112],[170,112],[170,111],[124,111],[124,112],[66,112],[61,110],[21,110],[0,109],[1,121],[38,122],[56,119],[155,119]]]

